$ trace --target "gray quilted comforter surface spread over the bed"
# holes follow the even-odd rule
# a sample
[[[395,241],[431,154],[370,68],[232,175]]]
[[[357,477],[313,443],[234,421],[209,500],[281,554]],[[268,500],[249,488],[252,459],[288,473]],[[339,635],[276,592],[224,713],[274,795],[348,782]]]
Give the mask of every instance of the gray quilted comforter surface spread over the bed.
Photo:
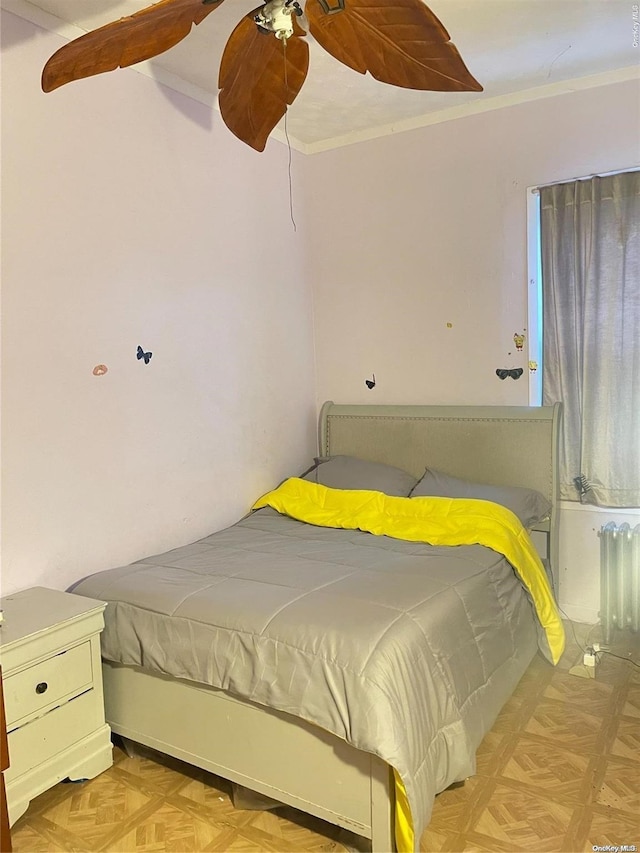
[[[262,509],[80,581],[109,602],[108,660],[303,717],[404,781],[416,843],[536,649],[504,558],[320,528]]]

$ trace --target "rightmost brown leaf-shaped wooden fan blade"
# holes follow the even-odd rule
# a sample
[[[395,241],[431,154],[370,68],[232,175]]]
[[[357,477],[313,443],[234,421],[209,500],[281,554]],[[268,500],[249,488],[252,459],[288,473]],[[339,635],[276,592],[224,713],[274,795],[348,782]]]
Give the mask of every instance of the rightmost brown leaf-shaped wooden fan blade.
[[[307,0],[309,32],[332,56],[404,89],[481,92],[422,0]]]

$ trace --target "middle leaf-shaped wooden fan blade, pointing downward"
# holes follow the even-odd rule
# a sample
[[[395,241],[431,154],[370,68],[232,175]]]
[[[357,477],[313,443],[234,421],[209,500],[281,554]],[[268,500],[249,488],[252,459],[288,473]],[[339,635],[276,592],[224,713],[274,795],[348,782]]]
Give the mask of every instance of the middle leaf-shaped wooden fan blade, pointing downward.
[[[295,18],[293,35],[285,43],[258,28],[253,16],[261,8],[249,12],[231,33],[218,78],[224,123],[256,151],[264,151],[309,70],[309,45]]]

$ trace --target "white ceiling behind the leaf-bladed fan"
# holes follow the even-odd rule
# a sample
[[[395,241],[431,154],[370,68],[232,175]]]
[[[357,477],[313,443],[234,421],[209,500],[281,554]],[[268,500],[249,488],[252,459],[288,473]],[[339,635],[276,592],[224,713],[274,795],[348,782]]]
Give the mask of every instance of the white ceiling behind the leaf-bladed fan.
[[[75,37],[150,3],[2,0],[2,5]],[[184,41],[144,63],[146,69],[141,70],[214,103],[226,39],[240,17],[257,5],[258,0],[226,0]],[[309,37],[309,74],[287,116],[294,147],[312,153],[471,112],[640,76],[638,29],[631,0],[431,0],[428,5],[449,31],[484,92],[416,92],[387,86],[341,65]]]

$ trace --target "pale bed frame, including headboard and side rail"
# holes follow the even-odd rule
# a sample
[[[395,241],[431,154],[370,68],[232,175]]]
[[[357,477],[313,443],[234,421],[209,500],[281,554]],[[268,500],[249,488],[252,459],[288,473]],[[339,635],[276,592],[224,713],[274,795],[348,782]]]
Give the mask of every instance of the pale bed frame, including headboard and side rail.
[[[476,482],[537,489],[553,506],[535,535],[555,580],[559,414],[558,405],[328,402],[319,449],[396,465],[416,477],[431,465]],[[529,660],[530,653],[518,662],[514,688]],[[103,670],[106,717],[116,734],[369,838],[373,853],[395,849],[393,778],[381,759],[220,690],[108,661]]]

